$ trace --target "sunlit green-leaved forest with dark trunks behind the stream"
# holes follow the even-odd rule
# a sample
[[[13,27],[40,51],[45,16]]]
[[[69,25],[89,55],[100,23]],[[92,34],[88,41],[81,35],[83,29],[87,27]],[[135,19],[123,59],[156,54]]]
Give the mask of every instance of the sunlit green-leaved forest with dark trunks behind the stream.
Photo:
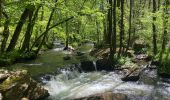
[[[1,0],[0,63],[31,59],[57,38],[79,46],[109,47],[113,62],[134,43],[170,72],[170,0]],[[168,70],[167,70],[168,69]]]

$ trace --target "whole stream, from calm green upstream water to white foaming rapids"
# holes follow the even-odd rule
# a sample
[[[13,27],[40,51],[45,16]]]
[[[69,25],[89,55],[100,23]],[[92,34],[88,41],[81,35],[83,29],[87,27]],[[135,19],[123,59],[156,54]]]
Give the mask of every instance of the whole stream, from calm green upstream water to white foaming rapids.
[[[58,64],[60,60],[56,60],[55,57],[70,54],[70,52],[63,51],[64,47],[59,42],[54,44],[53,50],[45,52],[36,61],[14,65],[36,69],[34,73],[39,73],[39,71],[47,73],[39,77],[50,93],[47,100],[72,100],[108,91],[126,94],[130,100],[170,100],[170,79],[158,77],[156,69],[144,70],[137,82],[123,82],[121,80],[123,76],[118,71],[80,72],[76,68],[74,70],[61,68],[57,74],[48,74],[49,69],[49,72],[56,71],[58,68],[56,66],[60,66]]]

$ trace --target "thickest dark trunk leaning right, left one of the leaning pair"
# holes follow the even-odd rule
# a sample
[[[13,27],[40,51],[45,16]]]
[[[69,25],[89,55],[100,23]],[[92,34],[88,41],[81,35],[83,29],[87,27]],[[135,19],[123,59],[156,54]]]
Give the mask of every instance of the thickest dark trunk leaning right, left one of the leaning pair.
[[[30,10],[26,8],[24,10],[24,12],[22,13],[21,18],[20,18],[20,20],[18,22],[18,25],[17,25],[17,27],[16,27],[16,29],[14,31],[14,35],[12,36],[10,44],[9,44],[9,46],[7,48],[7,51],[12,51],[15,48],[15,46],[17,44],[17,41],[18,41],[18,38],[19,38],[19,35],[21,33],[21,30],[22,30],[22,27],[23,27],[28,15],[29,15],[29,12],[30,12]]]

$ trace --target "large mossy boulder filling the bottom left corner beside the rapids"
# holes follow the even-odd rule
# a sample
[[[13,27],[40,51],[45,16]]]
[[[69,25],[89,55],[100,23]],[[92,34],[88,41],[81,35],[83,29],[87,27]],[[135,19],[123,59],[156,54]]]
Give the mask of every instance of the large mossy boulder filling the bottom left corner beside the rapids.
[[[39,100],[49,96],[47,90],[33,80],[26,70],[0,71],[0,94],[4,100]]]

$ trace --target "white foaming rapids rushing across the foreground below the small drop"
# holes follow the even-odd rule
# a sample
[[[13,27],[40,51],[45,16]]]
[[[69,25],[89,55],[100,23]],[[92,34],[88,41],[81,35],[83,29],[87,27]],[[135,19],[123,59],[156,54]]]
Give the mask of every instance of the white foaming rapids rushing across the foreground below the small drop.
[[[62,70],[45,83],[49,90],[49,100],[71,100],[80,97],[104,93],[123,93],[130,100],[170,100],[170,84],[159,79],[153,84],[123,82],[121,74],[116,72],[89,72]]]

